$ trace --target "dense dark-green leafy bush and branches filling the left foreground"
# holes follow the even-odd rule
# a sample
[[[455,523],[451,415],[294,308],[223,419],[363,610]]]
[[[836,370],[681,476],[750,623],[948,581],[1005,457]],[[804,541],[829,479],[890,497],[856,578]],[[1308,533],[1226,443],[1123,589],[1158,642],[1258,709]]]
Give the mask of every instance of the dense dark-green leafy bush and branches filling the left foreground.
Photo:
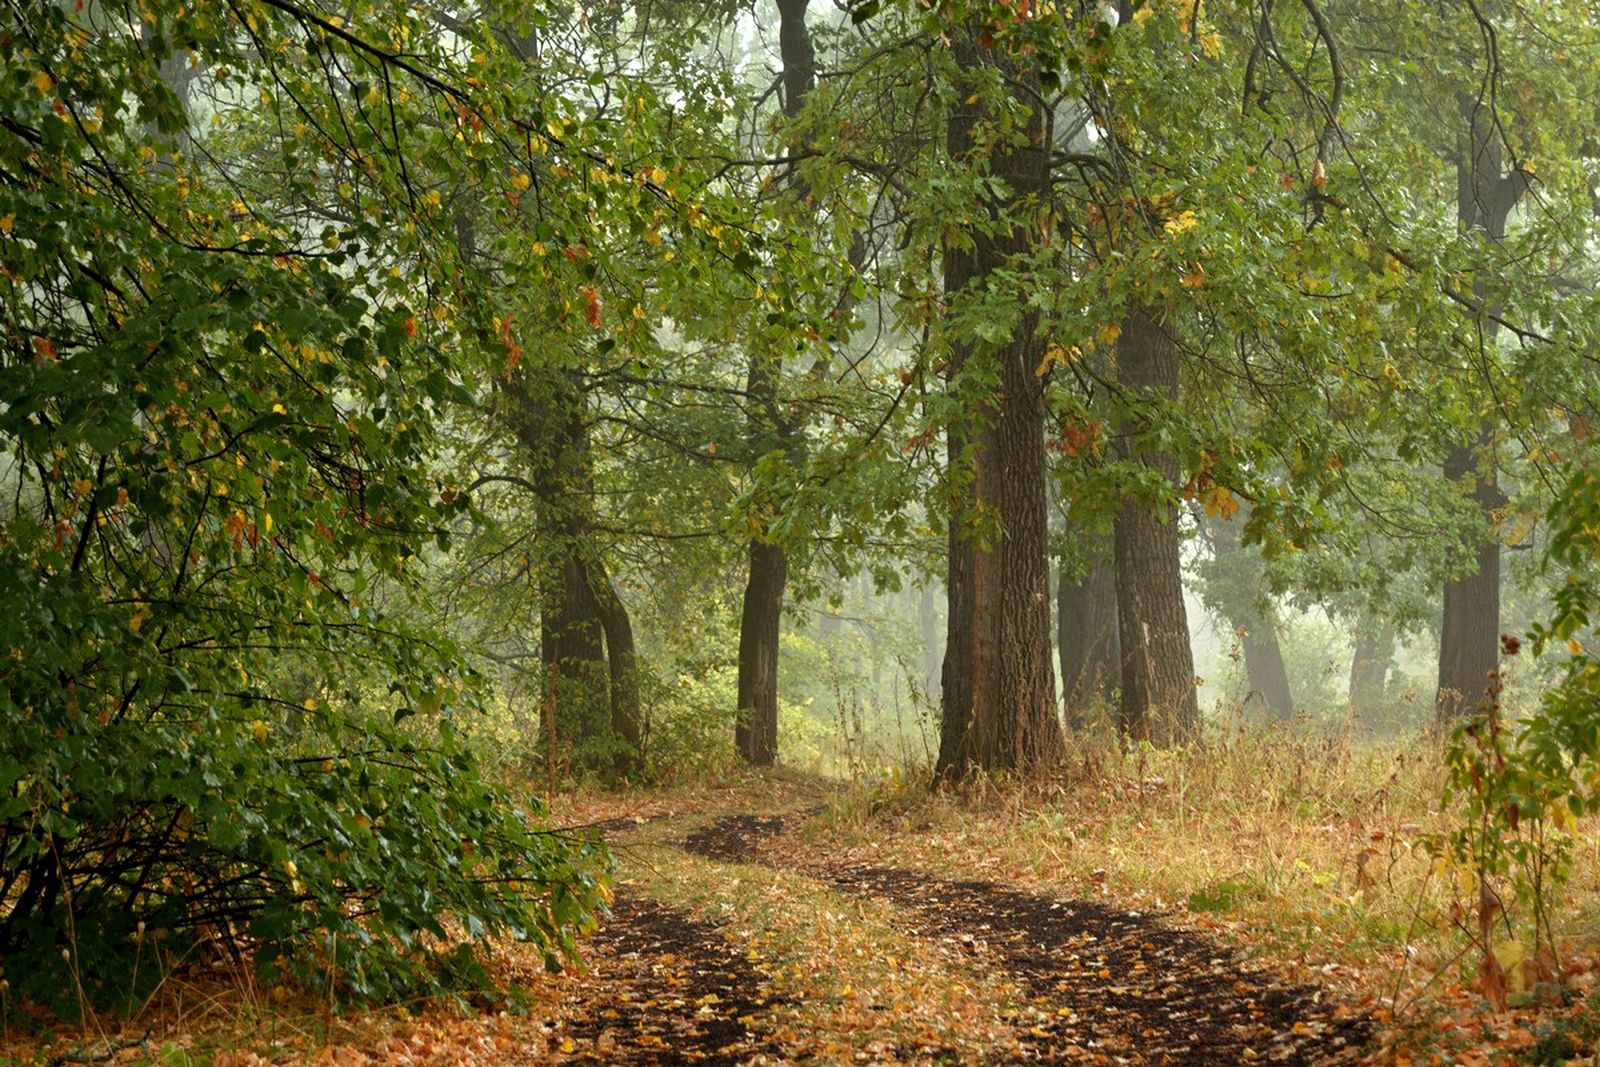
[[[0,37],[18,993],[99,1000],[149,979],[157,947],[214,942],[395,998],[483,982],[494,936],[554,966],[603,901],[603,851],[538,829],[464,747],[459,651],[386,609],[466,509],[427,462],[472,349],[414,310],[448,253],[421,254],[437,197],[398,142],[416,109],[453,112],[448,62],[386,66],[362,37],[411,19],[40,5]],[[298,93],[296,56],[342,85]],[[195,78],[210,141],[174,91]],[[334,122],[341,94],[363,122]],[[350,210],[325,205],[325,168]]]

